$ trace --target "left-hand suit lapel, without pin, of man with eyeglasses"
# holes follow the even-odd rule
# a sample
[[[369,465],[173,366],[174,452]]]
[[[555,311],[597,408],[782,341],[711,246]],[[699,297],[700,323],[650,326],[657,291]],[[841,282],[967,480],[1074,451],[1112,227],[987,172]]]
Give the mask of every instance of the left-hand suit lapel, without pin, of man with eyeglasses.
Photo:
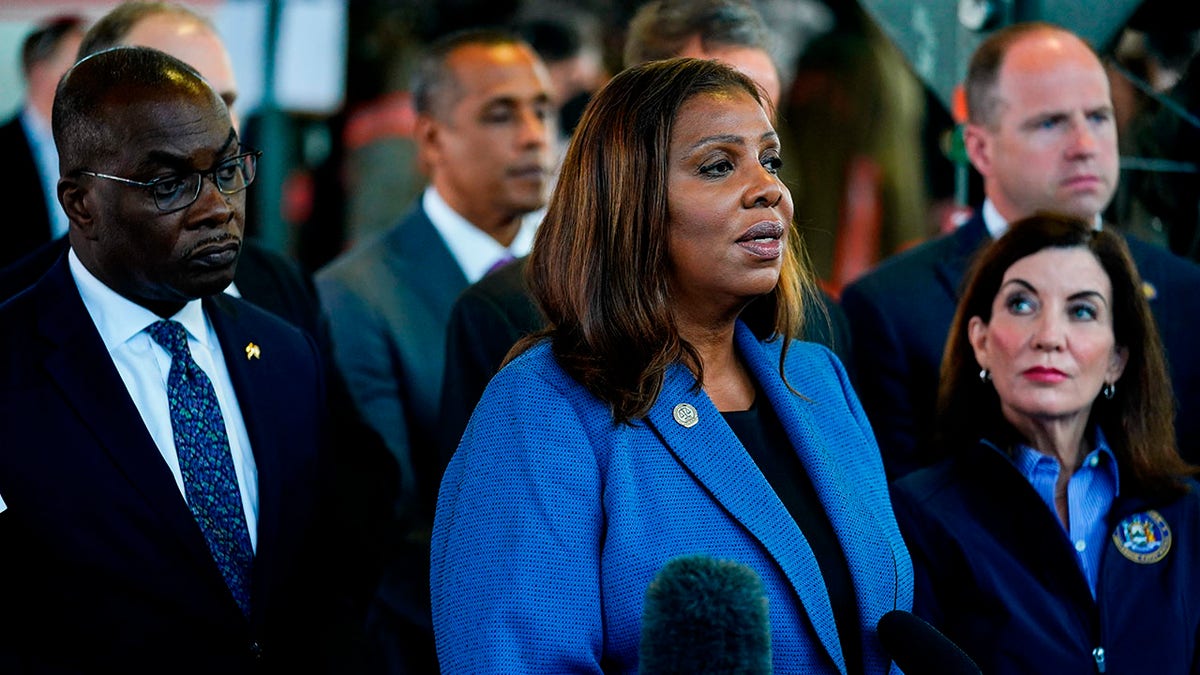
[[[47,372],[130,485],[167,521],[166,528],[193,557],[211,562],[204,536],[108,357],[65,258],[37,286],[37,293],[42,295],[38,330],[52,345],[44,362]]]

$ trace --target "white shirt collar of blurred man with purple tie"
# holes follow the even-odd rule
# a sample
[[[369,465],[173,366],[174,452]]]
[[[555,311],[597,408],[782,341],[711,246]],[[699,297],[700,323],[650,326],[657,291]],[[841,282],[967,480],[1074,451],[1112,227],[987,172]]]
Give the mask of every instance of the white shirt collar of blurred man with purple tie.
[[[475,227],[450,208],[450,204],[438,195],[431,185],[421,196],[421,208],[430,216],[433,227],[442,235],[450,255],[462,269],[467,281],[474,283],[484,277],[488,269],[502,259],[521,257],[533,246],[533,235],[541,222],[545,211],[538,210],[521,219],[521,228],[509,246],[502,246],[492,235]]]

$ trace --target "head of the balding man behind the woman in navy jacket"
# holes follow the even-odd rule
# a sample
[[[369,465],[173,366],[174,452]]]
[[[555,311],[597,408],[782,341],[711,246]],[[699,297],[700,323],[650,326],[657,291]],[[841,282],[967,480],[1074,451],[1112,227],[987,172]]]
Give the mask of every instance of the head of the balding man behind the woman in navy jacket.
[[[1117,132],[1108,74],[1087,43],[1044,23],[1006,28],[979,46],[966,86],[964,143],[1001,216],[1104,210],[1120,174]]]

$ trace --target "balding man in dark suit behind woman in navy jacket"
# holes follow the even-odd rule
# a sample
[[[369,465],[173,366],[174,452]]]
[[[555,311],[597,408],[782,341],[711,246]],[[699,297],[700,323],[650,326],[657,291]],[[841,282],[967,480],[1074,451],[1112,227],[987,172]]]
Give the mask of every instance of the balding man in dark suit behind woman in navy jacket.
[[[966,78],[966,148],[984,179],[980,213],[956,232],[884,262],[842,293],[856,388],[890,478],[930,456],[938,369],[959,286],[976,251],[1038,211],[1096,219],[1117,184],[1117,135],[1096,53],[1049,24],[985,40]],[[1166,350],[1184,458],[1200,460],[1200,267],[1129,239]]]

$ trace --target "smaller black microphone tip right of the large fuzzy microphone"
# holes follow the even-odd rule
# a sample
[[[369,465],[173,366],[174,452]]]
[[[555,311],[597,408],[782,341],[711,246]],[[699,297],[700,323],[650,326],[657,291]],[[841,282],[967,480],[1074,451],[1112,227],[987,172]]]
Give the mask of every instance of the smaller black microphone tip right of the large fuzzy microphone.
[[[905,675],[982,675],[974,661],[911,611],[893,609],[877,627],[883,651]]]

